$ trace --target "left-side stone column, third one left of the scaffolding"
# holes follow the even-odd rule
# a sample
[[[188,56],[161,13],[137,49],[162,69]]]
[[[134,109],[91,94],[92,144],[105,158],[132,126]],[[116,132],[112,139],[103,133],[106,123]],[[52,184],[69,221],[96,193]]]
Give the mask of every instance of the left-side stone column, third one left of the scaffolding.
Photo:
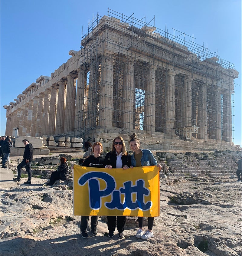
[[[49,111],[49,125],[47,135],[54,135],[56,123],[56,107],[57,107],[57,86],[51,86],[51,101]]]

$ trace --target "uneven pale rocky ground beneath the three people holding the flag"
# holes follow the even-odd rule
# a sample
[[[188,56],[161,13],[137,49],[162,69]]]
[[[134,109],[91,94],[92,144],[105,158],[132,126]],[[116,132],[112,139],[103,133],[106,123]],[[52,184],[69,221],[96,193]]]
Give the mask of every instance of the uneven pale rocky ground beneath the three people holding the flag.
[[[16,164],[17,158],[12,158],[11,168]],[[72,214],[72,179],[49,187],[45,186],[47,176],[42,177],[33,178],[32,185],[23,184],[27,178],[22,178],[13,187],[1,187],[2,256],[242,253],[241,182],[236,178],[161,178],[160,216],[155,217],[154,238],[141,240],[135,237],[136,217],[127,217],[123,239],[118,238],[117,231],[113,238],[107,237],[106,216],[99,218],[96,236],[89,232],[90,238],[81,238],[80,216]]]

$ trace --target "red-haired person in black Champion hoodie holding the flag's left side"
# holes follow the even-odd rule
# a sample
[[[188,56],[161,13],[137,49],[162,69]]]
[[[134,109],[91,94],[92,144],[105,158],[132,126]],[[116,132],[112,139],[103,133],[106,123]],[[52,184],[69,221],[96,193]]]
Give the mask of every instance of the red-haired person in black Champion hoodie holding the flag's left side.
[[[82,166],[86,167],[96,167],[96,168],[104,168],[104,157],[101,156],[103,152],[103,145],[100,142],[95,142],[93,144],[93,155],[90,155],[85,161],[83,162]],[[88,238],[89,235],[87,234],[87,224],[89,221],[89,216],[81,216],[81,237]],[[98,216],[91,217],[91,230],[92,235],[97,234],[97,224],[98,224]]]

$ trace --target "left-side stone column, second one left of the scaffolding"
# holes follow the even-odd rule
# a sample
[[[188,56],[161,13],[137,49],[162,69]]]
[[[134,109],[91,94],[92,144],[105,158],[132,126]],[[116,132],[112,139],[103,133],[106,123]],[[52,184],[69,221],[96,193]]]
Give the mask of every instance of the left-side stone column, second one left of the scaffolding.
[[[57,110],[56,110],[56,127],[55,134],[63,133],[64,131],[64,117],[65,117],[65,106],[66,106],[66,84],[63,79],[58,82],[58,99],[57,99]]]

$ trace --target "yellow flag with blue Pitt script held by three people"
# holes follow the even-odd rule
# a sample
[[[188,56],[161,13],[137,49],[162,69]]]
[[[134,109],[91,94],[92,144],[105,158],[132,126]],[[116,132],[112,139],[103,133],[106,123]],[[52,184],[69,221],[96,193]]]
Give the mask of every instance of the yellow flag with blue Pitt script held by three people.
[[[73,214],[155,217],[160,213],[159,169],[74,165]]]

